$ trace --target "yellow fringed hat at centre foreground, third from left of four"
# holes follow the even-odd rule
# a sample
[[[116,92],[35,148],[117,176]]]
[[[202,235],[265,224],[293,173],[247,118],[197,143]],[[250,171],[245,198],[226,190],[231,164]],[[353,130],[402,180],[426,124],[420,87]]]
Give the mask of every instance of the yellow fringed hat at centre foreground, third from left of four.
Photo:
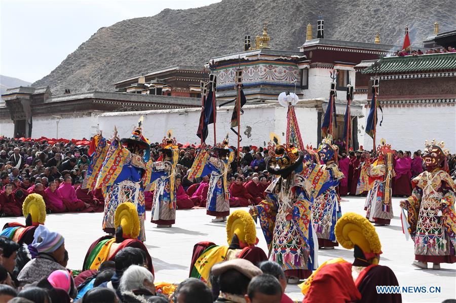
[[[231,245],[234,235],[248,245],[256,243],[255,222],[252,216],[245,210],[238,209],[234,211],[226,222],[226,241]]]

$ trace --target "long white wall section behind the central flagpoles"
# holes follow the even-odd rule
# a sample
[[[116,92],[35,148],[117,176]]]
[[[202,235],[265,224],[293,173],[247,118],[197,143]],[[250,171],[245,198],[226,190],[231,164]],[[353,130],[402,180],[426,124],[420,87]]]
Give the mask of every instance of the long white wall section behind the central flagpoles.
[[[246,105],[243,109],[241,145],[265,146],[268,144],[271,132],[277,133],[284,140],[287,125],[287,109],[285,107],[277,104],[262,104]],[[231,144],[236,145],[237,136],[230,129],[232,112],[232,106],[217,110],[217,142],[220,142],[228,133]],[[315,117],[312,117],[313,115]],[[200,143],[200,139],[196,136],[200,117],[199,108],[103,113],[98,117],[98,122],[105,136],[112,135],[112,130],[116,126],[119,136],[127,137],[141,116],[144,116],[144,136],[152,142],[161,142],[167,130],[171,129],[178,142]],[[306,138],[304,134],[309,137],[312,136],[316,143],[316,131],[314,134],[303,131],[312,128],[310,125],[313,120],[315,120],[316,125],[316,110],[296,108],[296,116],[299,120],[302,136],[304,138]],[[211,124],[206,142],[212,144],[213,141],[213,125]]]

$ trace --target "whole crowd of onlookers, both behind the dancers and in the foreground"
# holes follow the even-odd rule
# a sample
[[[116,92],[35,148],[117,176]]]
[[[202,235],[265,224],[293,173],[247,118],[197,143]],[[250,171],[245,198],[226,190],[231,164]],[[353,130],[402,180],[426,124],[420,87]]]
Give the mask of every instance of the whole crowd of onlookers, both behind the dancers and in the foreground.
[[[360,170],[376,158],[373,151],[345,153],[339,144],[338,165],[345,178],[341,180],[341,196],[356,193]],[[160,145],[151,146],[157,160]],[[195,161],[197,146],[179,144],[176,177],[178,209],[204,207],[209,176],[188,180],[189,168]],[[0,140],[0,214],[21,215],[21,203],[30,193],[43,196],[47,211],[102,211],[101,192],[83,190],[90,164],[88,145],[71,142]],[[264,190],[272,177],[266,168],[268,150],[244,146],[240,161],[233,162],[228,182],[230,206],[248,206],[264,199]],[[448,156],[454,171],[456,155]],[[238,164],[239,163],[239,166]],[[393,195],[409,195],[410,179],[423,167],[421,151],[397,151],[394,159],[396,177]],[[151,193],[146,193],[151,207]],[[148,202],[147,202],[148,199]],[[40,225],[28,248],[7,237],[0,237],[0,301],[11,302],[292,302],[284,294],[287,280],[282,268],[273,261],[253,264],[235,259],[215,264],[210,283],[189,278],[173,292],[164,293],[154,286],[154,276],[147,269],[147,260],[140,249],[127,247],[116,254],[114,261],[105,261],[98,270],[79,273],[67,269],[69,253],[64,237]],[[21,253],[27,249],[27,253]],[[29,251],[28,251],[29,250]],[[31,259],[30,259],[31,257]],[[210,287],[208,286],[210,285]]]

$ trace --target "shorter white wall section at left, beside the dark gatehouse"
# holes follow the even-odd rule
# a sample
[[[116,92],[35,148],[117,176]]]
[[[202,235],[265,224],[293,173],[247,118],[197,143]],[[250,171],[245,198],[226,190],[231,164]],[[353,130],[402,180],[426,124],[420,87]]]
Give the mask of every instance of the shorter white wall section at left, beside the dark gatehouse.
[[[88,115],[62,115],[59,121],[59,133],[57,134],[56,117],[49,116],[34,116],[32,126],[32,138],[40,138],[45,136],[48,138],[65,139],[82,139],[90,138],[97,133],[98,115],[101,112],[92,112]]]

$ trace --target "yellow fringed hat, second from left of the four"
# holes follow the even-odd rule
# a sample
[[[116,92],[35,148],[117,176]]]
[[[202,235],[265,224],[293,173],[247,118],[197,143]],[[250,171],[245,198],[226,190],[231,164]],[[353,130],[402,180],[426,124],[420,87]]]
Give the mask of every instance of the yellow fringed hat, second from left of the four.
[[[133,203],[120,204],[114,214],[114,228],[122,226],[123,238],[137,239],[139,236],[139,216]]]

